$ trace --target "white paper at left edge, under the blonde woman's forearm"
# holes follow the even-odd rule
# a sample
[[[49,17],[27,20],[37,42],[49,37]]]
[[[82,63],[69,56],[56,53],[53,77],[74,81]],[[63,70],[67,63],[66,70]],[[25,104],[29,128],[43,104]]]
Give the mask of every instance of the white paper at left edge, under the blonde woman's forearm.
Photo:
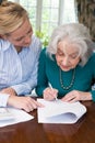
[[[32,119],[34,119],[34,117],[23,110],[15,108],[0,108],[0,128]]]

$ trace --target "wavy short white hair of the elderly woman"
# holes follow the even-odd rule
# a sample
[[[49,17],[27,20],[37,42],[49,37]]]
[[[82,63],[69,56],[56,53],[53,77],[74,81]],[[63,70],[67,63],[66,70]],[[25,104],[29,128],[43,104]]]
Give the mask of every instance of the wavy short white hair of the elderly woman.
[[[69,40],[70,44],[76,45],[81,57],[80,65],[84,66],[95,46],[91,40],[88,29],[81,23],[69,23],[56,28],[51,34],[46,53],[52,57],[57,53],[58,43],[66,38]]]

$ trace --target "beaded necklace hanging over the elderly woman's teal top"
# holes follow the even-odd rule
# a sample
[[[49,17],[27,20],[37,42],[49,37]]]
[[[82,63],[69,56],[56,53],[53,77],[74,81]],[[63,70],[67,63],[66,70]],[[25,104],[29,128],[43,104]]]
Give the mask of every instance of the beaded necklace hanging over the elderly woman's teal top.
[[[60,76],[61,88],[63,88],[64,90],[70,89],[70,88],[73,86],[73,84],[74,84],[74,79],[75,79],[75,68],[73,69],[72,79],[71,79],[71,82],[70,82],[69,86],[64,86],[64,85],[63,85],[62,76],[61,76],[61,69],[60,69],[60,68],[59,68],[59,74],[60,74],[59,76]]]

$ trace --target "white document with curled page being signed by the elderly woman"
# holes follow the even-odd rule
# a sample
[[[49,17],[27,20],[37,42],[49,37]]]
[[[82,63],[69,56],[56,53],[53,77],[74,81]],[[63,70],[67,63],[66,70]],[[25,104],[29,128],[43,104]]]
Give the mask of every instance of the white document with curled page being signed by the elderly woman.
[[[86,108],[81,102],[63,102],[60,99],[46,101],[37,99],[44,108],[38,108],[38,123],[75,123],[85,112]]]

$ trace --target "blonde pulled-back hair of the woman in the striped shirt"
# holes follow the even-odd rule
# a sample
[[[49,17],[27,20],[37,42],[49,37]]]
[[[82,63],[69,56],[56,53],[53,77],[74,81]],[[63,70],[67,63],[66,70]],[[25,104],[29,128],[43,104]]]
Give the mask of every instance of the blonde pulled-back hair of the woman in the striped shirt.
[[[0,35],[15,31],[26,18],[28,19],[26,10],[19,3],[2,0],[0,4]]]

